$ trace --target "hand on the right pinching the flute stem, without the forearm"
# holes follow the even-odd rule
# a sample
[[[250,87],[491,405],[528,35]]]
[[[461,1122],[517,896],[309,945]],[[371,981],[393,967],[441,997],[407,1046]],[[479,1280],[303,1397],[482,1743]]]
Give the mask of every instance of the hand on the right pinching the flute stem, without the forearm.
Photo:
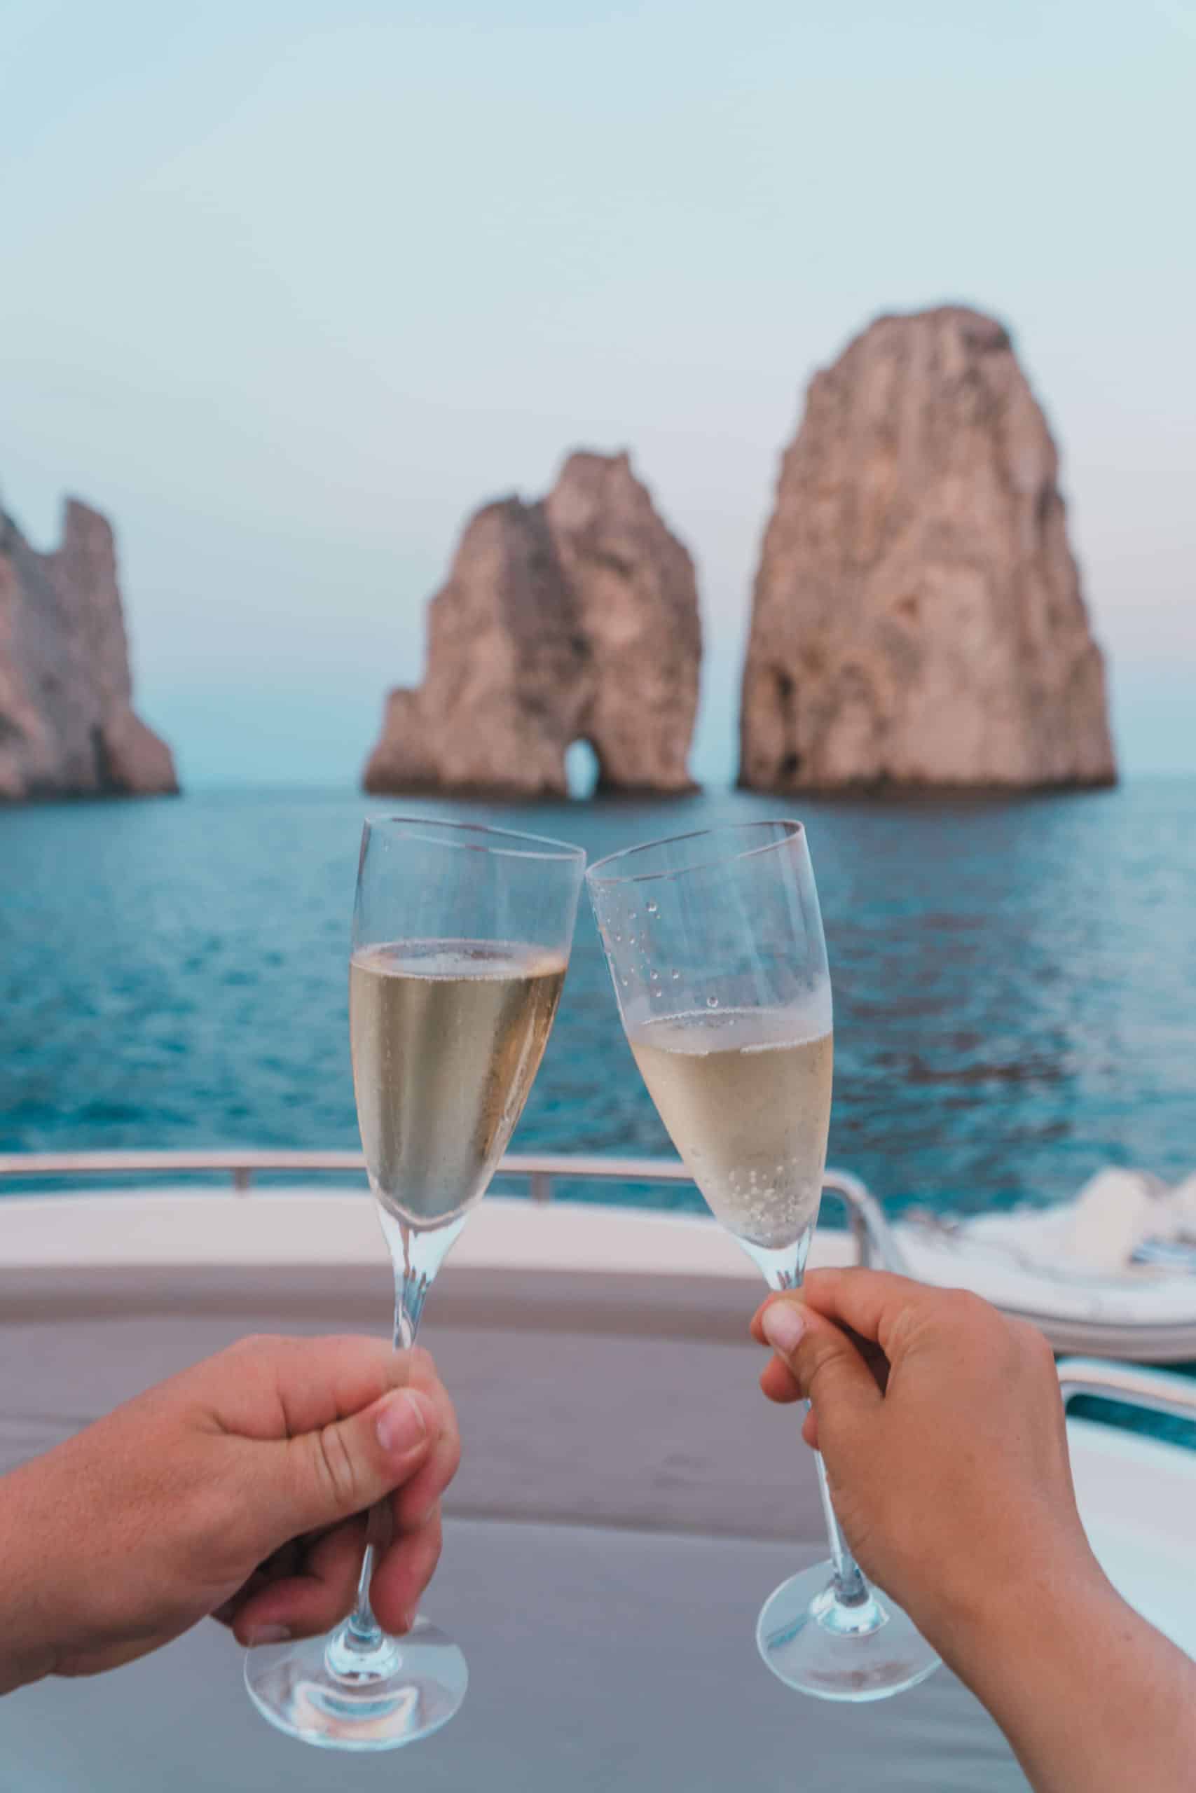
[[[952,1666],[1004,1610],[1108,1590],[1033,1327],[959,1289],[825,1269],[766,1302],[753,1334],[776,1350],[764,1393],[812,1404],[802,1431],[861,1567]]]

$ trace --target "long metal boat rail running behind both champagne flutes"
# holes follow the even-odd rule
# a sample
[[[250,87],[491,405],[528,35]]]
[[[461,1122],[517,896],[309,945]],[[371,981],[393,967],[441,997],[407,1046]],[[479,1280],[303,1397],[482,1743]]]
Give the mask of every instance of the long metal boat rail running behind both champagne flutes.
[[[366,1174],[360,1151],[11,1151],[0,1153],[0,1183],[50,1178],[228,1176],[238,1196],[253,1192],[258,1176]],[[692,1183],[680,1158],[608,1158],[586,1153],[513,1151],[497,1176],[527,1183],[533,1201],[547,1203],[558,1182]],[[846,1208],[861,1264],[904,1271],[900,1248],[871,1191],[850,1171],[828,1169],[823,1192]]]

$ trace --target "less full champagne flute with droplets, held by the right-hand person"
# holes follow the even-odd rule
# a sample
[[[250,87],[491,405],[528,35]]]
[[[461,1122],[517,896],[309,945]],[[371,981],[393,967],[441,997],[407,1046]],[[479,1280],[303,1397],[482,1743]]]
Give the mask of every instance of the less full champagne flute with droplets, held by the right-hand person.
[[[796,1289],[830,1126],[830,972],[798,821],[633,846],[586,873],[628,1044],[672,1144],[769,1289]],[[757,1626],[780,1680],[882,1700],[938,1657],[861,1574],[818,1456],[830,1562],[784,1581]]]

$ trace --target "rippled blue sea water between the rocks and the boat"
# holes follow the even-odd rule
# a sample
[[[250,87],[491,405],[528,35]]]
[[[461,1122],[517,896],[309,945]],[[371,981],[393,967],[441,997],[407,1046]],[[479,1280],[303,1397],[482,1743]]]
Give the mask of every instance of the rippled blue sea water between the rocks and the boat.
[[[436,805],[230,791],[0,812],[0,1149],[357,1146],[348,925],[362,818],[387,809]],[[1103,1164],[1196,1167],[1194,782],[450,812],[592,857],[800,814],[836,986],[830,1155],[891,1208],[1047,1203]],[[515,1144],[669,1149],[585,904]]]

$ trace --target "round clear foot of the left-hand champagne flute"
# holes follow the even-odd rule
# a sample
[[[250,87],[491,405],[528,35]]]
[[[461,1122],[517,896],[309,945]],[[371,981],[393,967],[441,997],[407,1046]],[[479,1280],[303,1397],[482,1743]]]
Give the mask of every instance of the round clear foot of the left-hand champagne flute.
[[[445,1632],[416,1619],[377,1650],[332,1637],[260,1644],[246,1653],[246,1687],[264,1718],[325,1750],[396,1750],[448,1723],[470,1680]]]

